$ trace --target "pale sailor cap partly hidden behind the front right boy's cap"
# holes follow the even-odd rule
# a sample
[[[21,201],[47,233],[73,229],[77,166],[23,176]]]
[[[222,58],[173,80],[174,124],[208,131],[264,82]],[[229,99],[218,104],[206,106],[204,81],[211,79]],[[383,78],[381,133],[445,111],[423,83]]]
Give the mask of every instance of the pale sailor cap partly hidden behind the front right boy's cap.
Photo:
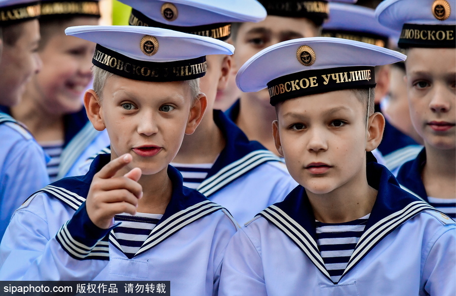
[[[381,47],[388,40],[398,39],[400,31],[381,25],[375,10],[367,7],[342,3],[329,4],[329,19],[323,24],[321,35],[360,41]]]

